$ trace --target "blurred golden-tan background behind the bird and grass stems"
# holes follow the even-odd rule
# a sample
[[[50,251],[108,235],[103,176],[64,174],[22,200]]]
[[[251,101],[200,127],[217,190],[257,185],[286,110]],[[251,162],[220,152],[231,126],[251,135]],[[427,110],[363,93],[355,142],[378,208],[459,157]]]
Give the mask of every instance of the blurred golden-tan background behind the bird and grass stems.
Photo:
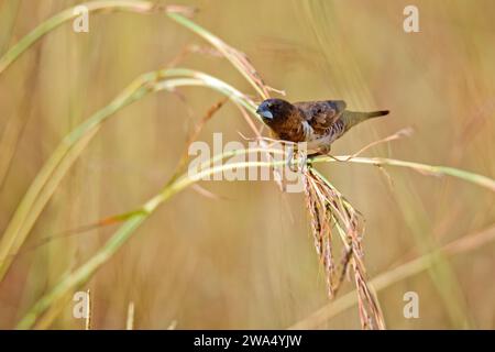
[[[37,24],[81,1],[0,1],[0,55]],[[352,154],[406,127],[408,139],[366,156],[459,167],[495,177],[495,2],[417,0],[419,33],[403,29],[410,1],[178,1],[194,21],[244,52],[287,99],[343,99],[353,110],[391,116],[354,128],[332,148]],[[161,2],[163,3],[163,2]],[[54,30],[0,75],[0,233],[61,140],[139,75],[166,67],[186,45],[207,45],[162,13],[96,13],[89,33]],[[255,91],[221,57],[191,54],[178,64]],[[116,226],[35,246],[40,240],[135,209],[172,176],[195,124],[221,97],[200,87],[157,92],[106,123],[37,219],[23,252],[0,282],[0,328],[11,329],[67,273],[86,262]],[[199,140],[252,135],[227,103]],[[495,231],[490,190],[410,169],[356,164],[318,168],[366,219],[371,278],[435,248]],[[387,177],[389,176],[389,178]],[[92,328],[285,329],[329,304],[302,194],[273,182],[202,182],[164,204],[81,287],[92,297]],[[1,235],[1,234],[0,234]],[[444,275],[420,271],[377,293],[387,328],[495,327],[495,244],[460,251]],[[346,282],[339,296],[352,292]],[[418,319],[403,315],[406,292]],[[339,297],[338,297],[339,298]],[[337,299],[338,299],[337,298]],[[81,329],[68,300],[52,329]],[[358,307],[314,328],[359,329]]]

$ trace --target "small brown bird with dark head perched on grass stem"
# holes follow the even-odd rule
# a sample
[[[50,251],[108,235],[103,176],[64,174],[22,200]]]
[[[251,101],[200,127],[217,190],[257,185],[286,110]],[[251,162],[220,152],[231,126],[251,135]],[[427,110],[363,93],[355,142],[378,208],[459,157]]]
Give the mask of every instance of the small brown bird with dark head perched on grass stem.
[[[388,114],[388,110],[355,112],[342,100],[290,103],[266,99],[256,110],[275,135],[284,141],[307,142],[308,154],[328,154],[330,145],[358,123]]]

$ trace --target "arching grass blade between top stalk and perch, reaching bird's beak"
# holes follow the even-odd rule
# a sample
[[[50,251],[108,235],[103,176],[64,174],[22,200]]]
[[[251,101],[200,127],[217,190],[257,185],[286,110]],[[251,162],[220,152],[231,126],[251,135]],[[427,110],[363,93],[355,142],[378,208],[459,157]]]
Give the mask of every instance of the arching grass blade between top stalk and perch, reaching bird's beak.
[[[185,68],[163,69],[140,76],[112,102],[64,138],[38,172],[0,241],[0,280],[4,277],[15,253],[24,243],[62,178],[99,131],[101,124],[122,108],[152,91],[173,90],[180,86],[202,86],[216,89],[254,114],[255,107],[244,98],[244,95],[212,76]]]

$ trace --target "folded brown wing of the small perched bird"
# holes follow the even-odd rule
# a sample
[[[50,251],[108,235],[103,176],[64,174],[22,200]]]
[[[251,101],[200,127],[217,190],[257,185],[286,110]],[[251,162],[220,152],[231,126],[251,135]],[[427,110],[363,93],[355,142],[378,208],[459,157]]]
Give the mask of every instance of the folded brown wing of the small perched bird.
[[[294,106],[304,111],[306,120],[318,134],[324,134],[346,107],[343,100],[301,101]]]

